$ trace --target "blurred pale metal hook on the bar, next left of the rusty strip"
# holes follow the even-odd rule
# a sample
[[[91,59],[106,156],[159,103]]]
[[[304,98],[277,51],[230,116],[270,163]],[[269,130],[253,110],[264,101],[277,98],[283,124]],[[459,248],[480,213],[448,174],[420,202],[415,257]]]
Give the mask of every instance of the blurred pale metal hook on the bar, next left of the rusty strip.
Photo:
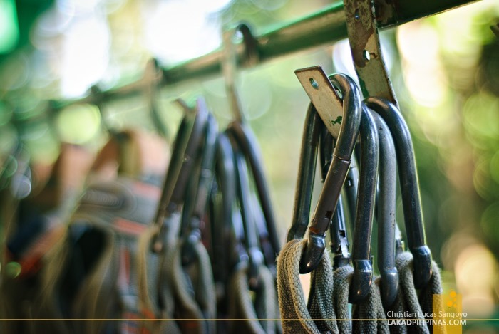
[[[234,43],[234,37],[237,32],[242,33],[243,51],[238,52],[237,46]],[[254,66],[259,61],[258,43],[251,33],[251,29],[245,23],[237,25],[235,28],[227,29],[223,33],[223,61],[222,71],[225,77],[225,90],[227,97],[230,100],[230,107],[234,113],[235,120],[244,122],[244,114],[240,104],[240,99],[237,95],[236,80],[237,66]],[[237,57],[238,55],[241,55]]]

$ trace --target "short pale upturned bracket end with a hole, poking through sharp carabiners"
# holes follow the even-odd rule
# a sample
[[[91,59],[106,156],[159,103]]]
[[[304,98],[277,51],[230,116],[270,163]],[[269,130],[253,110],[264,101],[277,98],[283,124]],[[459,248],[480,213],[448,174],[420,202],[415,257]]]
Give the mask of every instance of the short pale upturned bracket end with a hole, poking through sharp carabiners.
[[[321,116],[322,122],[337,138],[343,119],[343,103],[321,66],[301,68],[294,71],[312,104]]]

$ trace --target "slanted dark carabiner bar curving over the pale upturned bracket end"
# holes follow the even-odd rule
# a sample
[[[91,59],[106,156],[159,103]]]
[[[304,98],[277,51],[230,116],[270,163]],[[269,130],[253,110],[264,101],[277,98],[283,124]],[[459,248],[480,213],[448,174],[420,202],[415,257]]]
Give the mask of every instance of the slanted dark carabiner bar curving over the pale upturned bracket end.
[[[307,245],[304,247],[300,261],[300,273],[309,273],[314,270],[326,249],[326,231],[349,170],[351,153],[359,136],[361,123],[361,95],[354,80],[343,74],[331,75],[329,79],[343,98],[343,117],[341,130],[336,139],[333,160],[312,216]]]

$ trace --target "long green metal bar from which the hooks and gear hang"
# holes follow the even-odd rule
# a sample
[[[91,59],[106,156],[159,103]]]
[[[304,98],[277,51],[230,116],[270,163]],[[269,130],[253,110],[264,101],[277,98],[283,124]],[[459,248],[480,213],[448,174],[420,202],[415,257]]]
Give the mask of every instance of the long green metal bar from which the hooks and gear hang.
[[[379,28],[389,28],[404,24],[408,21],[421,19],[433,14],[439,14],[449,9],[454,9],[478,0],[375,0],[376,19]],[[293,21],[257,36],[257,49],[259,52],[259,63],[271,61],[289,53],[304,51],[310,48],[329,45],[342,38],[346,38],[346,22],[344,6],[342,2]],[[244,57],[242,43],[237,48],[237,62],[242,68],[249,67]],[[222,74],[221,63],[223,61],[222,48],[218,48],[205,56],[185,61],[176,66],[163,69],[162,85],[174,85],[185,80],[210,78],[213,75]],[[254,64],[251,64],[253,66]],[[140,93],[145,83],[130,83],[123,88],[114,88],[102,92],[101,98],[125,97]],[[82,101],[91,102],[92,98],[79,100],[61,101],[56,106],[63,106]]]

